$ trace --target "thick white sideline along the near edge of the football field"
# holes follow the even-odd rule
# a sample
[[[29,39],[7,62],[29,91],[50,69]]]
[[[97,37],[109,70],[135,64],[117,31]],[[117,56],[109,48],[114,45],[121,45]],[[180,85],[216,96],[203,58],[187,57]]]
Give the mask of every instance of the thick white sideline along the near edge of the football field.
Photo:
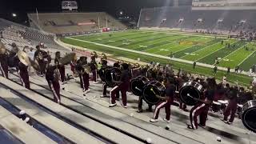
[[[135,53],[135,54],[144,54],[144,55],[147,55],[147,56],[153,56],[153,57],[157,57],[157,58],[164,58],[164,59],[168,59],[168,60],[172,60],[172,61],[176,61],[176,62],[185,62],[185,63],[193,64],[192,61],[187,61],[187,60],[184,60],[184,59],[170,58],[170,57],[166,57],[166,56],[162,56],[162,55],[158,55],[158,54],[150,54],[150,53],[146,53],[146,52],[142,52],[142,51],[138,51],[138,50],[124,49],[124,48],[117,47],[117,46],[109,46],[109,45],[104,45],[104,44],[100,44],[100,43],[97,43],[97,42],[89,42],[89,41],[76,39],[76,38],[69,38],[69,39],[72,39],[72,40],[75,40],[75,41],[80,41],[80,42],[91,43],[91,44],[94,44],[96,46],[105,46],[105,47],[109,47],[109,48],[112,48],[112,49],[115,49],[115,50],[123,50],[123,51],[132,52],[132,53]],[[221,49],[219,49],[219,50],[221,50]],[[214,68],[213,65],[209,65],[209,64],[201,63],[201,62],[198,62],[197,65],[208,67],[208,68]],[[218,67],[218,70],[226,70],[226,68],[225,67]],[[230,71],[233,72],[234,70],[230,70]],[[248,72],[245,72],[243,74],[248,75]],[[240,77],[243,77],[243,76],[240,76]]]

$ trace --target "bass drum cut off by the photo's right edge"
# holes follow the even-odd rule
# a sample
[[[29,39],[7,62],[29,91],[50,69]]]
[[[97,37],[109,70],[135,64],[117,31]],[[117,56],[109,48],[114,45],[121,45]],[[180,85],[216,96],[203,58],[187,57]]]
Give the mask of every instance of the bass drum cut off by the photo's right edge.
[[[256,100],[246,102],[242,106],[242,123],[248,130],[256,133]]]

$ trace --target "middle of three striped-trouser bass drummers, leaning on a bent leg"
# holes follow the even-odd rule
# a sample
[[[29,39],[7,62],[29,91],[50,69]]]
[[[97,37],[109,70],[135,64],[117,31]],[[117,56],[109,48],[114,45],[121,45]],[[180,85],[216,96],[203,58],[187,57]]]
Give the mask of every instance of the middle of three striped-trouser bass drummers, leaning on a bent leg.
[[[160,109],[165,107],[166,109],[166,118],[163,120],[166,121],[167,123],[170,123],[170,105],[172,102],[174,102],[174,94],[176,90],[176,86],[171,83],[170,78],[165,78],[164,79],[164,85],[166,86],[165,90],[165,97],[161,97],[159,95],[156,95],[156,97],[160,98],[162,101],[158,103],[158,105],[155,107],[154,110],[154,117],[150,119],[150,122],[158,122],[158,115]]]

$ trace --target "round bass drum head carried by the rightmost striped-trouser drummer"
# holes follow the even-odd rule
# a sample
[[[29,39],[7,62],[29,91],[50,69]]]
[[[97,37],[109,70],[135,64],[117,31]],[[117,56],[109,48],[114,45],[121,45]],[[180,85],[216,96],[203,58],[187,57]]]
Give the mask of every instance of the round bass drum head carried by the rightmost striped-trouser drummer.
[[[194,86],[183,86],[179,91],[179,94],[182,102],[188,106],[194,106],[198,103],[198,101],[194,100],[193,98],[200,98],[200,93],[194,88]],[[193,98],[190,98],[188,95],[192,96]]]

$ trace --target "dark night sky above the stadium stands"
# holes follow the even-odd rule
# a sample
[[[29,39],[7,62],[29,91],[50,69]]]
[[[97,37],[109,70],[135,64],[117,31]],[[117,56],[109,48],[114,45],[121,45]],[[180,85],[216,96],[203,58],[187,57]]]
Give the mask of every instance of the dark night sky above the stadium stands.
[[[191,0],[179,0],[180,5],[191,5]],[[62,0],[0,0],[0,17],[14,22],[25,22],[27,13],[61,12]],[[141,8],[172,6],[173,0],[77,0],[78,11],[106,11],[116,16],[123,10],[126,16],[138,18]],[[11,18],[11,13],[18,14]]]

